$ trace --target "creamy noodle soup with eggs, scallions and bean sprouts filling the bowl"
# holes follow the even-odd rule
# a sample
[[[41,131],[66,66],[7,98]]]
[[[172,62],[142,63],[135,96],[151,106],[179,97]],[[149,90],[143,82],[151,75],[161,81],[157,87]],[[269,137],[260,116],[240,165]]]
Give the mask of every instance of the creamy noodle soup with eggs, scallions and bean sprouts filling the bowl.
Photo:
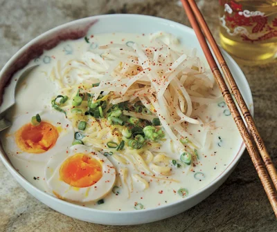
[[[170,34],[87,35],[33,64],[1,141],[26,180],[62,200],[110,211],[177,202],[239,149],[211,71]]]

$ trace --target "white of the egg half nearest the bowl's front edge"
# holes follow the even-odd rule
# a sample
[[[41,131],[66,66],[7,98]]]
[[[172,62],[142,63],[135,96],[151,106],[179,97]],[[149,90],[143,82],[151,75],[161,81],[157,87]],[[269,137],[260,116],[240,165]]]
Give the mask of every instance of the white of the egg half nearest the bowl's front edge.
[[[76,188],[60,179],[62,163],[76,153],[89,155],[89,157],[98,160],[102,165],[102,177],[96,184],[84,188]],[[48,185],[48,191],[51,194],[55,191],[64,200],[93,202],[102,199],[111,191],[116,180],[116,169],[107,157],[101,153],[84,145],[75,145],[51,157],[45,168],[45,180]]]

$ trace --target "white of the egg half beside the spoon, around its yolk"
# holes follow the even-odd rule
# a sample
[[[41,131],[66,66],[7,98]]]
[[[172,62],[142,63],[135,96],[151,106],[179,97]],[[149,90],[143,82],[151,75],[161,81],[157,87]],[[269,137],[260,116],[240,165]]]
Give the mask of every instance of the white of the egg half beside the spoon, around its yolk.
[[[59,131],[59,137],[55,145],[44,153],[28,153],[22,151],[15,142],[15,133],[25,124],[30,123],[31,118],[39,114],[43,122],[48,122],[55,126]],[[74,139],[74,131],[71,122],[65,118],[64,113],[57,112],[55,110],[50,111],[35,111],[32,113],[26,113],[17,117],[12,126],[5,131],[5,135],[1,136],[3,148],[7,155],[12,155],[21,160],[34,160],[37,162],[44,162],[51,156],[55,155],[58,151],[71,146]]]

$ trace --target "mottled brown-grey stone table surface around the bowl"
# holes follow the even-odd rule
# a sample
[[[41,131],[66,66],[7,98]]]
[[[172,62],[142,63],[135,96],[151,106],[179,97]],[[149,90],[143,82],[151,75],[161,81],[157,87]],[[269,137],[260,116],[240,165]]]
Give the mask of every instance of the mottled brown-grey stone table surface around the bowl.
[[[198,1],[218,39],[218,1]],[[96,14],[149,14],[189,25],[177,1],[0,0],[0,68],[28,41],[46,30]],[[255,119],[277,162],[277,66],[241,66],[249,81]],[[277,231],[276,219],[249,155],[220,189],[192,209],[159,222],[103,226],[69,218],[28,194],[0,162],[0,231]]]

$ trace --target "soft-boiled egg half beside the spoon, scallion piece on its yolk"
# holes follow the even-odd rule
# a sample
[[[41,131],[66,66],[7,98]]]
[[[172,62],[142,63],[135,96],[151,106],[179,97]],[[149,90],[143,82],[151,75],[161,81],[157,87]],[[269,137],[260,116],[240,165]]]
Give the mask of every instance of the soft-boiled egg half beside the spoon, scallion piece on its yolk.
[[[41,122],[34,125],[31,119],[37,114]],[[71,146],[74,131],[64,113],[51,110],[17,117],[5,137],[3,146],[8,155],[42,162],[64,147]]]

